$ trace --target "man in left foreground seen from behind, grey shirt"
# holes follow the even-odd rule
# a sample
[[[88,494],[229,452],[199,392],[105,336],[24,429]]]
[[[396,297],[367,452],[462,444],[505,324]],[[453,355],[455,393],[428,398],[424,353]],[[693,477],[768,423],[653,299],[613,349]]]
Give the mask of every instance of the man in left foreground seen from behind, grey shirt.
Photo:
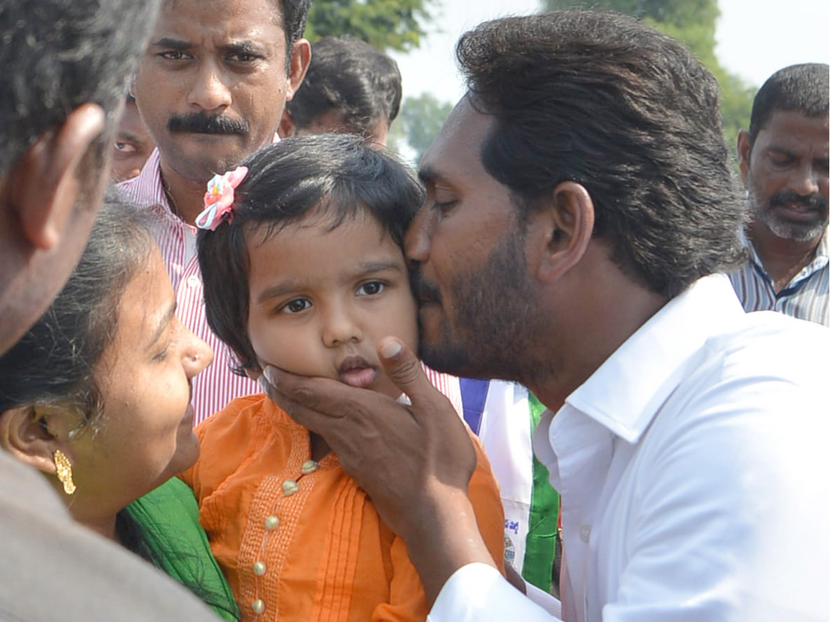
[[[126,82],[158,8],[0,4],[0,352],[43,313],[81,255]],[[2,450],[0,533],[0,620],[212,619],[182,586],[74,522],[41,474]]]

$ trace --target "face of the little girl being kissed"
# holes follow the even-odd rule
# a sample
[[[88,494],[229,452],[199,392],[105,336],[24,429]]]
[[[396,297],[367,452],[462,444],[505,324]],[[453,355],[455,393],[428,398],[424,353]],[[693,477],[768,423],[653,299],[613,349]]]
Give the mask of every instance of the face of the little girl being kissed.
[[[377,346],[417,349],[417,309],[403,250],[369,212],[330,230],[310,216],[262,241],[251,259],[248,336],[261,367],[338,379],[397,398]]]

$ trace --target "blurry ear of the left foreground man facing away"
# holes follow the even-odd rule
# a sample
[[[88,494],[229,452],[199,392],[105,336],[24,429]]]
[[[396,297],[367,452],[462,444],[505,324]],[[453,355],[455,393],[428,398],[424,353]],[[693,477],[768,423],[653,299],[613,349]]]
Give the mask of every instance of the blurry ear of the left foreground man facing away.
[[[61,241],[82,189],[78,168],[104,124],[98,104],[82,104],[59,128],[41,135],[17,163],[9,200],[35,248],[51,250]]]

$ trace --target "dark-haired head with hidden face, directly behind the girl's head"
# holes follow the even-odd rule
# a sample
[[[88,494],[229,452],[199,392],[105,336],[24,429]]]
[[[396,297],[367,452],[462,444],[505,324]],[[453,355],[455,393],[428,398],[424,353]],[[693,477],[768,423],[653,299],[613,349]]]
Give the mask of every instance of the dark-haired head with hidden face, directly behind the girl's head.
[[[351,36],[324,36],[311,46],[311,64],[286,102],[280,135],[359,134],[385,147],[401,105],[398,63]]]

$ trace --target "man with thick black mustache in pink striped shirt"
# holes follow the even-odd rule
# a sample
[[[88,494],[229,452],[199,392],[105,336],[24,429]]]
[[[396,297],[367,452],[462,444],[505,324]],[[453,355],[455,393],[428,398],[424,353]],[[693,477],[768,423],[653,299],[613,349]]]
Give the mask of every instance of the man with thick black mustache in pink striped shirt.
[[[157,148],[120,189],[158,215],[178,316],[216,354],[193,381],[195,423],[258,388],[232,373],[230,350],[207,326],[193,221],[207,181],[274,140],[309,65],[308,10],[309,0],[164,0],[134,80]]]

